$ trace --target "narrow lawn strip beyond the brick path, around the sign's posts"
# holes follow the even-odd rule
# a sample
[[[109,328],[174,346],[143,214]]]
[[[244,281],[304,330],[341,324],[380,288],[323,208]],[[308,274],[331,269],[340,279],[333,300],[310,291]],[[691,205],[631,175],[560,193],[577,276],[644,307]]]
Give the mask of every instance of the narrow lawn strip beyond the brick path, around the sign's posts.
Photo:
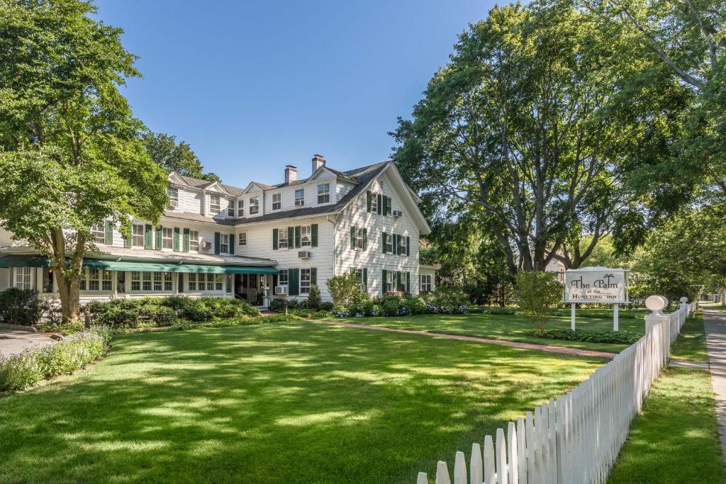
[[[417,329],[419,331],[448,333],[491,338],[494,340],[521,341],[539,345],[558,345],[586,350],[619,352],[628,345],[613,343],[587,343],[582,341],[549,340],[531,335],[534,329],[524,316],[507,314],[423,314],[420,316],[386,316],[376,318],[338,319],[358,324],[385,326],[389,328]],[[620,319],[620,329],[645,332],[645,321]],[[569,329],[570,318],[555,316],[547,323],[546,329]],[[577,328],[608,331],[613,329],[612,319],[579,318]]]

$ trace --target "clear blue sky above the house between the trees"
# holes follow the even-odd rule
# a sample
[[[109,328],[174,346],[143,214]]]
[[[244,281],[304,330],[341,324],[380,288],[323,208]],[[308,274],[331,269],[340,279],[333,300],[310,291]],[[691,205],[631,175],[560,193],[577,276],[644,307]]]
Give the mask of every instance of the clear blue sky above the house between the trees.
[[[468,22],[492,1],[97,0],[144,78],[123,89],[153,131],[187,141],[224,182],[388,159]]]

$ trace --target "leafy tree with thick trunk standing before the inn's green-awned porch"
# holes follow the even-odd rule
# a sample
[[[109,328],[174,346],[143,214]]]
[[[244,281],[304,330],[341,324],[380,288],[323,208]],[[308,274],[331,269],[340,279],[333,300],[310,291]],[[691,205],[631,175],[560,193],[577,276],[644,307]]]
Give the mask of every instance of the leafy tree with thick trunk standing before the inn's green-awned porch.
[[[80,0],[0,0],[0,226],[50,259],[65,319],[78,317],[91,225],[156,221],[166,173],[119,92],[139,75],[121,30]]]

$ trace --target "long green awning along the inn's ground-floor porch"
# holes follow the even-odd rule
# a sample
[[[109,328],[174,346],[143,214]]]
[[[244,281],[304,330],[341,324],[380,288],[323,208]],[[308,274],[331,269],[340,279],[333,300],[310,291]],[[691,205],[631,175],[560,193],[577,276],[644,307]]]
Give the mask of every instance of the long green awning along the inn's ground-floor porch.
[[[50,267],[48,258],[41,255],[12,254],[0,257],[0,267]],[[147,272],[211,272],[212,274],[277,274],[269,266],[230,266],[220,264],[187,264],[160,261],[107,261],[105,259],[83,259],[83,267],[107,271]]]

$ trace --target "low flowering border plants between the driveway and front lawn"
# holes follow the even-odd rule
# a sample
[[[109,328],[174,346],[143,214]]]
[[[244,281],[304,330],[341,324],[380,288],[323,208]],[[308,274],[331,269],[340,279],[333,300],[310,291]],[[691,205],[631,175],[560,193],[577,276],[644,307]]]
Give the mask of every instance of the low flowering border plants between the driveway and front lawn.
[[[85,368],[106,352],[109,340],[102,330],[86,331],[18,355],[0,356],[0,391],[24,390],[41,380]]]

